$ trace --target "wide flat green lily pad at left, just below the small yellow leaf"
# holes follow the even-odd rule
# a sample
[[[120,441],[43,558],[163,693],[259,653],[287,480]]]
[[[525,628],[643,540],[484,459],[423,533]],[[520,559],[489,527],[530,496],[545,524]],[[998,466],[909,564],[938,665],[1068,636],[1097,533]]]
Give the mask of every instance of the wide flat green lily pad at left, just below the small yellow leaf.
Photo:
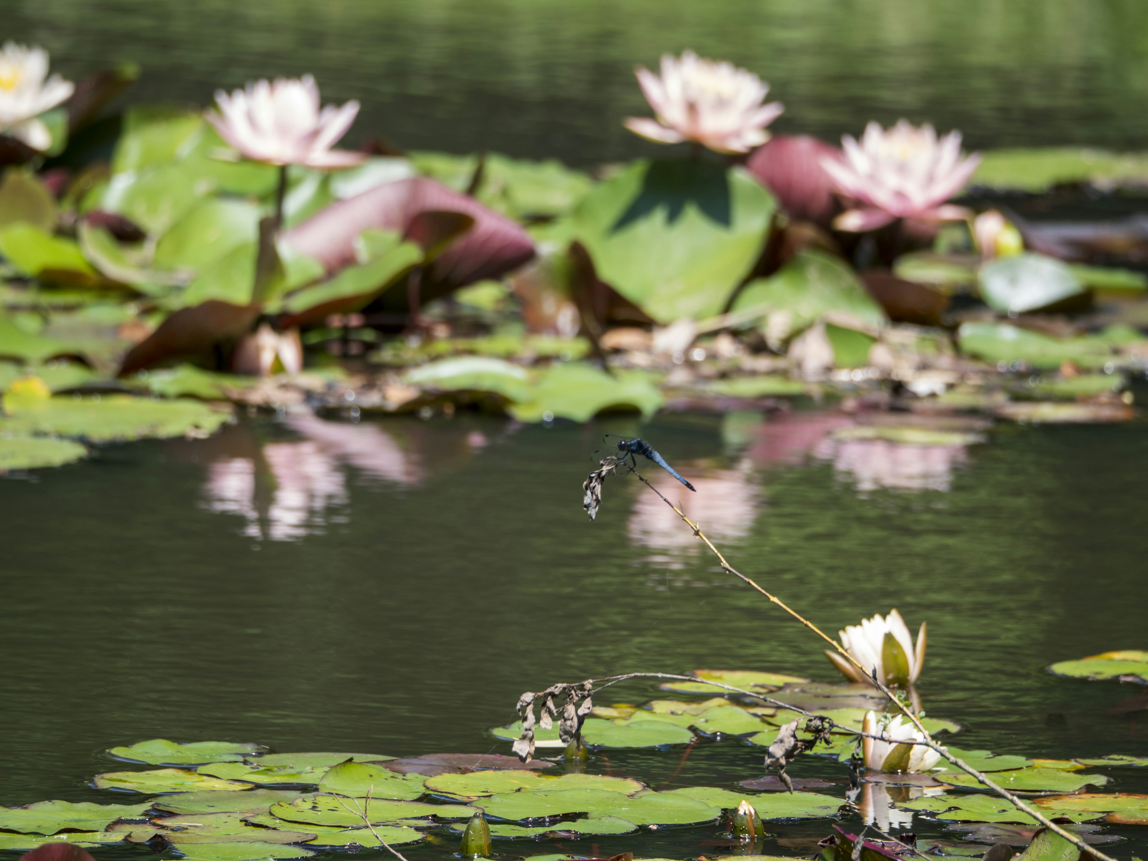
[[[230,420],[230,410],[212,409],[199,401],[57,395],[0,419],[0,433],[60,434],[111,442],[189,434],[205,436]]]

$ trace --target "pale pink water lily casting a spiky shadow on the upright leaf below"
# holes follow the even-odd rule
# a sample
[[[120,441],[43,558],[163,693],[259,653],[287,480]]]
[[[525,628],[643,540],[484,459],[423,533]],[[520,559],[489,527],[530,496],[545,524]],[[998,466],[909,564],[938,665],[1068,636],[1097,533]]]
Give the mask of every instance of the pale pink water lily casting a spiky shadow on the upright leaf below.
[[[659,144],[696,141],[718,153],[747,153],[769,140],[766,126],[784,107],[762,104],[769,85],[732,63],[704,60],[692,51],[664,54],[661,76],[635,71],[657,119],[630,117],[626,127]]]

